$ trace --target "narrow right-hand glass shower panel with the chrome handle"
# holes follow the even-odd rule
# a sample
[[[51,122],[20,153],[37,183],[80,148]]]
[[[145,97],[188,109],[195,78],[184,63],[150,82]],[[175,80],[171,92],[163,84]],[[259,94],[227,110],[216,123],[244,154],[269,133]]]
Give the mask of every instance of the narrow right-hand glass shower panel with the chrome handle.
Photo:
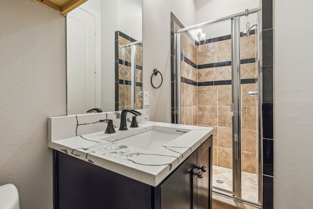
[[[257,28],[257,13],[240,17],[241,196],[252,203],[258,203],[259,187]]]

